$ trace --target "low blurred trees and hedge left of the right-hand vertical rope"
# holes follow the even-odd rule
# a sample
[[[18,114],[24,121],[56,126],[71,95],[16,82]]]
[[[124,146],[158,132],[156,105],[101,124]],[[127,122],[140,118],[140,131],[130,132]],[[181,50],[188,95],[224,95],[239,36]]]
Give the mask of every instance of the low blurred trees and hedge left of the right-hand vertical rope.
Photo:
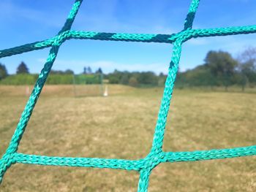
[[[29,68],[22,61],[16,70],[16,74],[8,75],[7,69],[0,64],[0,84],[5,85],[33,85],[37,80],[38,74],[29,74]],[[154,72],[120,72],[115,70],[109,74],[103,74],[99,67],[95,72],[90,66],[83,68],[81,74],[75,74],[72,70],[67,69],[51,70],[46,81],[47,84],[99,84],[102,79],[107,80],[111,84],[123,85],[148,85],[157,86],[164,85],[166,76],[164,74],[155,74]]]

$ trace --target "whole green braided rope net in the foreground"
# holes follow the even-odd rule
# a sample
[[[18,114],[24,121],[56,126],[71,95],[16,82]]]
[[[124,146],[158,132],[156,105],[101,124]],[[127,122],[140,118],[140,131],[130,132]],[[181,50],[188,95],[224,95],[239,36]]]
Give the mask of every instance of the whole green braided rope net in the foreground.
[[[256,145],[249,147],[235,147],[230,149],[218,150],[200,150],[191,152],[165,152],[162,150],[162,143],[165,134],[165,125],[167,113],[170,107],[170,99],[173,94],[173,86],[178,72],[178,62],[181,56],[181,45],[192,38],[197,37],[215,37],[227,36],[236,34],[252,34],[256,32],[256,26],[238,26],[227,28],[208,28],[208,29],[192,29],[192,23],[195,18],[199,0],[192,0],[189,7],[187,18],[185,19],[184,29],[176,34],[116,34],[116,33],[97,33],[88,31],[72,31],[70,30],[75,15],[78,12],[82,0],[75,1],[69,16],[59,34],[55,37],[42,42],[34,42],[31,44],[13,47],[0,51],[0,58],[10,55],[29,52],[31,50],[39,50],[45,47],[51,47],[48,58],[42,71],[39,74],[37,82],[34,85],[34,90],[29,97],[25,109],[21,115],[20,121],[15,133],[12,136],[9,147],[0,159],[0,182],[4,177],[4,173],[12,164],[39,164],[51,166],[83,166],[97,167],[109,169],[125,169],[135,170],[140,172],[138,182],[138,191],[148,191],[148,180],[152,169],[158,164],[164,162],[178,161],[200,161],[220,158],[235,158],[247,155],[256,155]],[[154,131],[151,152],[146,158],[137,160],[125,159],[108,159],[108,158],[72,158],[72,157],[53,157],[43,155],[29,155],[18,153],[18,145],[29,118],[33,112],[34,106],[37,103],[39,94],[45,84],[53,62],[58,54],[59,47],[67,39],[95,39],[109,41],[127,41],[127,42],[165,42],[173,44],[173,55],[170,61],[170,66],[165,82],[165,89],[162,96],[162,102],[159,109],[157,125]]]

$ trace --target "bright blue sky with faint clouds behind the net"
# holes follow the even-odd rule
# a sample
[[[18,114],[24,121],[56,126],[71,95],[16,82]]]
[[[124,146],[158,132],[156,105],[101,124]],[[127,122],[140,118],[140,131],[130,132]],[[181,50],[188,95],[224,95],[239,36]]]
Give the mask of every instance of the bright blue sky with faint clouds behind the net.
[[[58,33],[73,0],[1,0],[0,50],[53,37]],[[84,0],[74,30],[173,34],[181,31],[189,0]],[[194,28],[255,25],[255,0],[201,0]],[[182,47],[180,69],[203,64],[208,50],[225,50],[237,57],[256,43],[256,35],[191,39]],[[172,45],[138,42],[101,42],[69,40],[59,50],[53,69],[83,71],[83,66],[103,72],[114,69],[167,72]],[[49,48],[8,58],[0,62],[15,73],[24,61],[31,73],[38,73]]]

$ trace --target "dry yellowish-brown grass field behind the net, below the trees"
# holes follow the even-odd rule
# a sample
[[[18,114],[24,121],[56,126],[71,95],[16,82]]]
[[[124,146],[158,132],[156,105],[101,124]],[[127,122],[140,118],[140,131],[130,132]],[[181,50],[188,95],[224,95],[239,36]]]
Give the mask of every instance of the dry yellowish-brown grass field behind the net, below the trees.
[[[162,88],[111,85],[108,97],[74,97],[48,85],[20,142],[20,153],[100,158],[145,157]],[[256,145],[256,93],[176,90],[165,151]],[[26,104],[25,88],[0,86],[0,155]],[[13,165],[0,191],[137,191],[138,172]],[[148,191],[256,191],[256,157],[160,164]]]

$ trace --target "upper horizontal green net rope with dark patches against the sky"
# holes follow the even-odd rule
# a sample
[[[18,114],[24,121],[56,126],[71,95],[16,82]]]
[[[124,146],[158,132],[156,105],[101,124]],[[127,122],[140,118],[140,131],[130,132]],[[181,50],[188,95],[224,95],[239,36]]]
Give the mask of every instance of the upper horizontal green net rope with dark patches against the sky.
[[[103,41],[119,41],[119,42],[159,42],[170,43],[176,39],[183,37],[183,42],[191,38],[197,37],[217,37],[238,34],[253,34],[256,32],[256,25],[253,26],[235,26],[226,28],[206,28],[206,29],[187,29],[177,34],[120,34],[120,33],[101,33],[94,31],[64,31],[56,37],[46,39],[42,42],[33,42],[6,50],[0,50],[0,58],[20,53],[26,53],[32,50],[40,50],[53,45],[55,39],[62,38],[63,42],[69,39],[92,39]]]

